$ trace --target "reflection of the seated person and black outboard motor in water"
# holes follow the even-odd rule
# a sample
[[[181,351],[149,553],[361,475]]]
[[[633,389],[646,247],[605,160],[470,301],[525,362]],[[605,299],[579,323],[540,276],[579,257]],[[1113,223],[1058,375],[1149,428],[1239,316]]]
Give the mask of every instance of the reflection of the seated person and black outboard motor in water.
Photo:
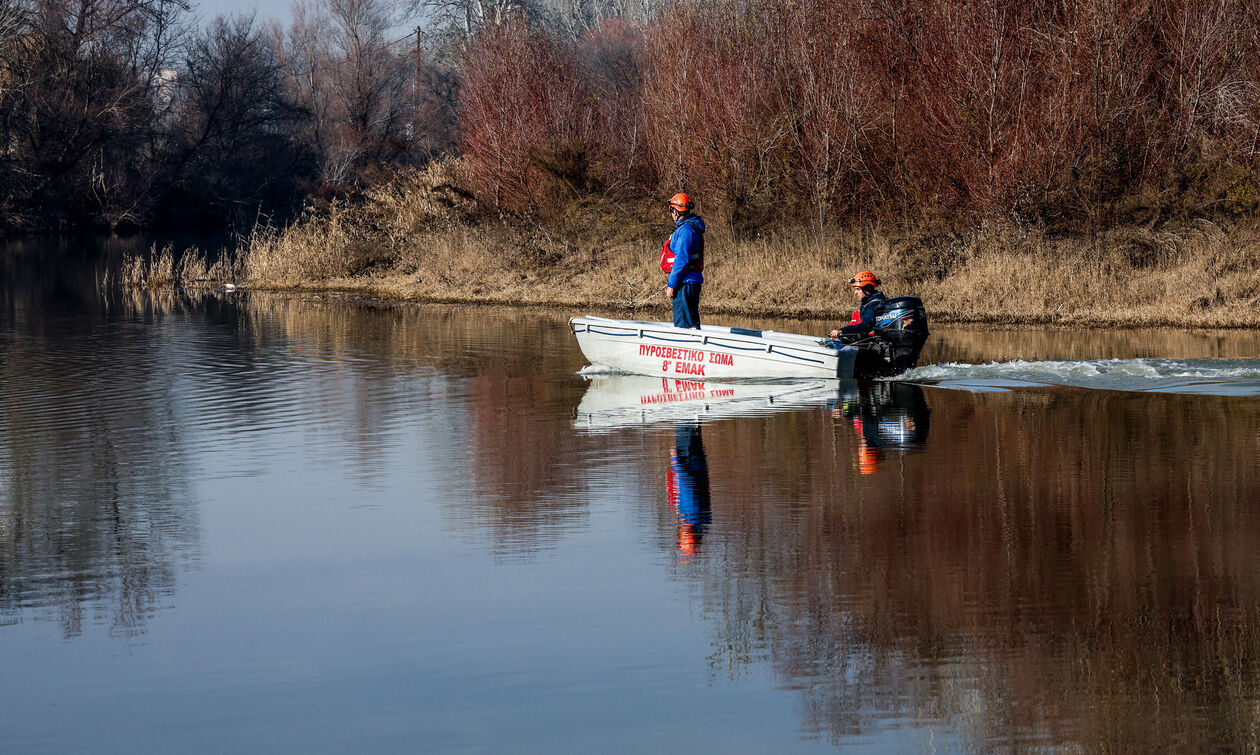
[[[924,389],[910,383],[845,383],[832,416],[848,420],[858,436],[858,473],[876,474],[890,450],[927,444],[931,410]]]

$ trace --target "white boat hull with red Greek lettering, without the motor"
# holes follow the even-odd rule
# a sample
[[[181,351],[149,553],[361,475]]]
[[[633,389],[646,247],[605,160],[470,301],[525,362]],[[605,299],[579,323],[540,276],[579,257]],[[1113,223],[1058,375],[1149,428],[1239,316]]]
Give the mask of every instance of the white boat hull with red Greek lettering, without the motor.
[[[825,339],[704,325],[573,318],[570,328],[595,367],[689,381],[742,378],[853,378],[868,363],[854,347]]]

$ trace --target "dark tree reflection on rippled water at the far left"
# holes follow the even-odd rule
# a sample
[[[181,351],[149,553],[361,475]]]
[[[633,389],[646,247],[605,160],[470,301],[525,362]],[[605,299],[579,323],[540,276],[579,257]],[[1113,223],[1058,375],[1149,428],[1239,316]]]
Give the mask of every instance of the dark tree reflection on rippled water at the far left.
[[[0,616],[134,635],[199,524],[171,344],[110,326],[92,274],[0,256]]]

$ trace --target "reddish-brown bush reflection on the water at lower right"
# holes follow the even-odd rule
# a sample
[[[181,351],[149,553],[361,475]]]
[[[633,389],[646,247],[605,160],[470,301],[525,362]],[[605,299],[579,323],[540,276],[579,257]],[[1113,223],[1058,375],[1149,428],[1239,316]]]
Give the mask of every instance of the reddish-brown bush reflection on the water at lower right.
[[[906,388],[827,418],[891,413],[905,429],[919,415],[926,432],[922,392]],[[809,729],[837,741],[892,716],[946,722],[979,747],[1247,747],[1260,726],[1247,400],[930,398],[931,437],[895,458],[876,446],[874,476],[861,458],[876,439],[816,413],[706,427],[711,459],[759,460],[711,469],[723,558],[694,579],[714,662],[765,657]]]

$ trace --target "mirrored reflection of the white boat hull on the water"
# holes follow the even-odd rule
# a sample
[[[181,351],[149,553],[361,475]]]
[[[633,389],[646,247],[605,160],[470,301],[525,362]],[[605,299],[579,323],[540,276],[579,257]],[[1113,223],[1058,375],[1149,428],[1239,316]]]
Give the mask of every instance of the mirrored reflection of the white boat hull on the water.
[[[848,384],[856,386],[852,382]],[[718,383],[639,374],[595,374],[577,406],[573,426],[598,431],[825,407],[838,400],[840,387],[838,379]]]

